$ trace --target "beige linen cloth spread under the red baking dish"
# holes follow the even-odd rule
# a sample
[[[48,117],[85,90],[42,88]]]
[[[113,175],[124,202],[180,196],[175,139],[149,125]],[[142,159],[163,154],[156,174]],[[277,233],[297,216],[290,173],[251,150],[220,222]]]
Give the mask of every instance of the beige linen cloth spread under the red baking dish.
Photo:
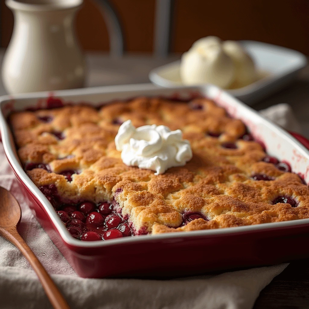
[[[283,111],[283,112],[282,112]],[[263,115],[290,128],[291,109],[282,105]],[[281,116],[280,116],[281,115]],[[0,186],[22,209],[19,233],[63,292],[72,308],[252,308],[260,291],[288,264],[177,280],[79,278],[41,228],[19,190],[0,143]],[[15,246],[0,237],[1,308],[51,308],[36,274]]]

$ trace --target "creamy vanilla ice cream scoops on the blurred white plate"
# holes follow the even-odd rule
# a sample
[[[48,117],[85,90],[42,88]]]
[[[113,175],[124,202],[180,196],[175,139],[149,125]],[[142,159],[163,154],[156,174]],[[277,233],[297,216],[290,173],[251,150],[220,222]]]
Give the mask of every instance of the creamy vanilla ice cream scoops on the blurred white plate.
[[[256,70],[240,44],[207,36],[182,55],[180,76],[187,85],[211,83],[221,88],[239,88],[256,80]]]

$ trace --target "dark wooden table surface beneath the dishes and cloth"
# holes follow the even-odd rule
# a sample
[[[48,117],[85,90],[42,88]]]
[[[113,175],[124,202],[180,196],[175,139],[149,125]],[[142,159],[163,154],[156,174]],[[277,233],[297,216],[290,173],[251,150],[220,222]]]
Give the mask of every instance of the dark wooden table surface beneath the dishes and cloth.
[[[0,50],[0,61],[3,52]],[[158,59],[151,55],[136,54],[113,59],[107,54],[88,53],[86,86],[149,83],[148,73],[151,69],[178,58],[179,56]],[[0,95],[4,94],[6,92],[0,81]],[[299,72],[293,83],[256,103],[253,108],[260,110],[278,103],[291,105],[303,135],[309,138],[309,66]],[[309,259],[291,262],[262,290],[254,309],[266,308],[309,308]]]

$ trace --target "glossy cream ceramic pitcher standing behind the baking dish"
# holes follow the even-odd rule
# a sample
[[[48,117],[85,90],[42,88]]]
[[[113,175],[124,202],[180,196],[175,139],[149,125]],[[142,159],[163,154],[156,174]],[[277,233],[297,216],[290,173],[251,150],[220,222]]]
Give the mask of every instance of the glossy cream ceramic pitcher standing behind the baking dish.
[[[8,93],[82,87],[85,61],[73,19],[83,0],[7,0],[14,29],[2,64]]]

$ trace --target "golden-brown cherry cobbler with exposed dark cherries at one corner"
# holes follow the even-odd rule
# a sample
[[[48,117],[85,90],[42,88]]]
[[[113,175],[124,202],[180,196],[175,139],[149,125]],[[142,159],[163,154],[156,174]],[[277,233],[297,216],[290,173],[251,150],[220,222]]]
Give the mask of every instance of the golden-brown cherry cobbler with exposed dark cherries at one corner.
[[[160,175],[125,165],[114,139],[127,120],[181,129],[192,159]],[[81,240],[309,218],[304,181],[208,99],[68,105],[10,123],[28,176]]]

